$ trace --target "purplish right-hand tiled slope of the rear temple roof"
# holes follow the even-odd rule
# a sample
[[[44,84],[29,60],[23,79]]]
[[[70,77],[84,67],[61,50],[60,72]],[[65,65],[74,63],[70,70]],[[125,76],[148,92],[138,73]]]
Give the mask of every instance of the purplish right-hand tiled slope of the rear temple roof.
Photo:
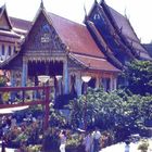
[[[101,5],[103,7],[103,10],[113,27],[121,30],[119,36],[123,36],[123,39],[127,40],[130,48],[135,49],[137,54],[139,54],[141,59],[151,60],[147,50],[140,43],[140,40],[137,37],[129,20],[118,13],[116,10],[109,7],[104,1],[101,2]]]

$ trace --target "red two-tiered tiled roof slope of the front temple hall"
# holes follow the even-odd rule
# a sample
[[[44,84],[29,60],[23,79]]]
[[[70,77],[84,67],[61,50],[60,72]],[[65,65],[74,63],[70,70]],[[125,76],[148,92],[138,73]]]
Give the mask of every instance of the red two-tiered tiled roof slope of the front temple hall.
[[[106,61],[104,53],[100,51],[85,25],[52,13],[48,15],[62,41],[68,46],[69,56],[74,56],[90,69],[117,71]]]

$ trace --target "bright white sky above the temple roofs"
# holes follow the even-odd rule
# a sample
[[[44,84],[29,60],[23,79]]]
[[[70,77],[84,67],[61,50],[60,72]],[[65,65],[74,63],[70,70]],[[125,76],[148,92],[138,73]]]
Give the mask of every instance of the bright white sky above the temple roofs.
[[[98,0],[100,1],[100,0]],[[33,21],[41,0],[0,0],[5,3],[10,16]],[[83,23],[94,0],[43,0],[47,11]],[[152,41],[152,0],[105,0],[123,15],[127,15],[142,43]]]

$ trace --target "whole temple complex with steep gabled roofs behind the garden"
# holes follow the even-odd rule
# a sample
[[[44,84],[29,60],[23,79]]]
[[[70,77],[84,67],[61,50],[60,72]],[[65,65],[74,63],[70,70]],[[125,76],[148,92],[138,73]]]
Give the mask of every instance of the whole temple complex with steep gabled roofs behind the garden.
[[[103,0],[94,1],[83,24],[47,12],[41,2],[33,22],[8,16],[0,8],[0,68],[12,86],[39,85],[53,78],[55,97],[84,92],[81,77],[92,88],[116,89],[128,61],[151,60],[129,21]]]

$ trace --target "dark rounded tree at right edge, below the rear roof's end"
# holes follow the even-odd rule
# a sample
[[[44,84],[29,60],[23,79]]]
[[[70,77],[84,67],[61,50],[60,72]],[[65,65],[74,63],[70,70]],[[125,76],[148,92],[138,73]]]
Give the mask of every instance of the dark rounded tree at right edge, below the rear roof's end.
[[[152,93],[152,62],[132,61],[127,64],[124,76],[128,79],[128,88],[134,93]]]

